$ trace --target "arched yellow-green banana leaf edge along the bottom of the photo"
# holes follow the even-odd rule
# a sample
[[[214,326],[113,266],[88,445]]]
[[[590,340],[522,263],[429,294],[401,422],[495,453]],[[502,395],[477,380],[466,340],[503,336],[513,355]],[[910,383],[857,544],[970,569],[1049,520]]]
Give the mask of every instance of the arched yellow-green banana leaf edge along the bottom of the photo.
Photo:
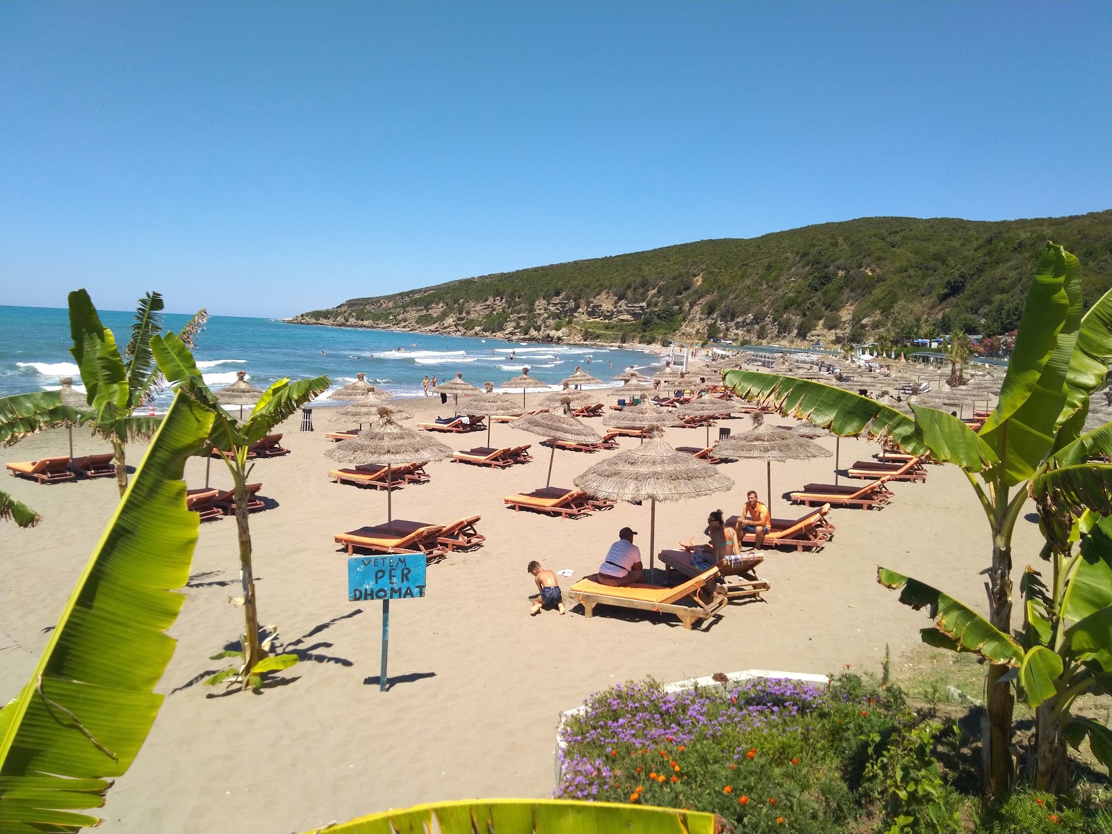
[[[465,800],[387,811],[310,834],[717,834],[732,832],[715,814],[570,800]]]

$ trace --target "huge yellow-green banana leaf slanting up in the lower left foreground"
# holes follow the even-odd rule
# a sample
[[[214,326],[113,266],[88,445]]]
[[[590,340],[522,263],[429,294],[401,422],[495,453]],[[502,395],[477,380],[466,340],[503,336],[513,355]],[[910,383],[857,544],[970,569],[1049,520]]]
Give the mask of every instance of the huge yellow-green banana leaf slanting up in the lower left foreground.
[[[182,471],[211,425],[211,413],[175,397],[31,679],[0,709],[0,831],[98,824],[82,812],[103,805],[147,738],[200,520]]]

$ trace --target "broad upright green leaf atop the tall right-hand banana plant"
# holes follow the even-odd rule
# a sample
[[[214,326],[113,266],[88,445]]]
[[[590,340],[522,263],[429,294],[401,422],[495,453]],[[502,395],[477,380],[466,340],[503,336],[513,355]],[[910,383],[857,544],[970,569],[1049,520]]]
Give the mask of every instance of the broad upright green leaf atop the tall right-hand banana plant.
[[[1081,306],[1078,259],[1048,244],[1027,291],[1000,404],[979,433],[996,453],[1009,486],[1027,480],[1054,447]]]

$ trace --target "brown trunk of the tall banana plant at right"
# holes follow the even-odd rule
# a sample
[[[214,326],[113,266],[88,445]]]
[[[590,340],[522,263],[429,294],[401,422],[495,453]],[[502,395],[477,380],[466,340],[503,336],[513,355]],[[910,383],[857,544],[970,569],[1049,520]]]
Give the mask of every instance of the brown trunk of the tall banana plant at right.
[[[997,542],[992,548],[992,569],[989,572],[989,619],[1004,634],[1012,633],[1012,548]],[[1012,790],[1015,773],[1012,761],[1012,709],[1015,697],[1010,683],[1000,683],[1009,667],[992,664],[985,681],[985,709],[987,732],[985,747],[986,790],[990,796],[1006,796]]]

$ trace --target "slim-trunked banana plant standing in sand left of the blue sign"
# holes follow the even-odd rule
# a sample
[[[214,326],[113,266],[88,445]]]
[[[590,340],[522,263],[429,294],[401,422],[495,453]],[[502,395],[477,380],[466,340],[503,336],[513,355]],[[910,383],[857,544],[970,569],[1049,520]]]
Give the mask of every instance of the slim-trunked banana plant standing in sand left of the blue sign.
[[[158,361],[161,374],[178,391],[187,394],[195,401],[208,409],[212,416],[212,435],[209,448],[220,453],[228,466],[236,490],[236,526],[239,539],[239,580],[242,590],[245,628],[241,641],[242,663],[239,668],[221,672],[210,678],[210,683],[231,681],[241,684],[241,688],[258,688],[261,675],[266,672],[289,668],[297,662],[296,655],[277,655],[266,657],[266,651],[259,642],[259,618],[255,595],[255,574],[251,566],[251,530],[247,510],[247,479],[254,465],[248,465],[247,454],[251,444],[261,440],[276,425],[285,420],[305,403],[328,388],[328,377],[301,379],[291,383],[279,379],[259,397],[251,414],[242,423],[238,423],[217,400],[212,391],[205,385],[197,363],[186,342],[173,334],[155,336],[151,339],[151,350]],[[234,653],[232,653],[234,654]],[[218,655],[219,656],[219,655]]]

